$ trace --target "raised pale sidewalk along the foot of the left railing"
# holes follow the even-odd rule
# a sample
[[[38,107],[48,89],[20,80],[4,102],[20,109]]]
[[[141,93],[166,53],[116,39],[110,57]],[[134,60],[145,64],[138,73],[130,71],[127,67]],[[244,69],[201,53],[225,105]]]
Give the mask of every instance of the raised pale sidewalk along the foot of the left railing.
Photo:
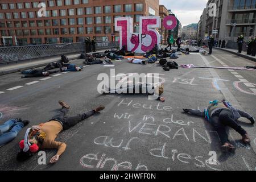
[[[111,49],[111,48],[109,48]],[[108,49],[102,49],[96,52],[104,52]],[[94,53],[94,52],[92,52]],[[75,53],[71,55],[67,55],[69,60],[75,60],[79,59],[80,53]],[[39,68],[39,67],[44,67],[48,63],[51,63],[53,61],[60,60],[60,56],[51,56],[47,58],[39,58],[36,60],[30,60],[30,61],[20,61],[20,63],[10,63],[10,64],[0,64],[0,75],[6,75],[9,73],[15,73],[18,72],[18,69],[32,69],[32,68]]]

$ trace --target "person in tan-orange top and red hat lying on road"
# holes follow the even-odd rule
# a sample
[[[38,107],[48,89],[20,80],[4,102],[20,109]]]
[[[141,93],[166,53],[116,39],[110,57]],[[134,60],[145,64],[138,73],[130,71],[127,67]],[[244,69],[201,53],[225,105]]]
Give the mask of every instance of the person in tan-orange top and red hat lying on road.
[[[38,150],[46,148],[57,148],[57,153],[50,160],[50,163],[56,163],[59,160],[59,156],[63,154],[66,148],[66,144],[63,142],[55,141],[57,135],[69,128],[75,126],[77,123],[89,118],[95,113],[103,110],[104,106],[99,106],[96,109],[87,111],[86,113],[79,114],[73,117],[65,116],[68,113],[70,106],[63,101],[59,101],[62,106],[55,116],[46,123],[41,123],[37,126],[32,126],[26,132],[24,140],[19,142],[20,152],[17,155],[18,161],[24,161],[31,155],[34,155]]]

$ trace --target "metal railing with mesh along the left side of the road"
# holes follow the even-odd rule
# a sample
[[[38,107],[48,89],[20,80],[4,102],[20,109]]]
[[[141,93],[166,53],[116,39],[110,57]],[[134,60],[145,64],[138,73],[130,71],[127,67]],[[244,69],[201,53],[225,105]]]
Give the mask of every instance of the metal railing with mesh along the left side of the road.
[[[118,42],[97,42],[96,49],[117,47]],[[42,44],[36,46],[14,46],[0,48],[0,64],[39,57],[57,56],[85,51],[85,43]]]

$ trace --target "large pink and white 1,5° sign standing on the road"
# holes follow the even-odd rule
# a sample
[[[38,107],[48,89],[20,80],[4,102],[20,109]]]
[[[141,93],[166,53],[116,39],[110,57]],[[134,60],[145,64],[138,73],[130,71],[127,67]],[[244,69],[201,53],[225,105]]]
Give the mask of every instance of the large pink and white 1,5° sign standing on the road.
[[[156,28],[160,28],[160,16],[140,16],[139,32],[133,32],[133,18],[115,18],[115,31],[119,31],[120,49],[123,46],[127,51],[144,53],[150,51],[155,45],[160,47],[160,34]],[[163,26],[167,30],[172,30],[177,26],[175,16],[166,16],[163,19]]]

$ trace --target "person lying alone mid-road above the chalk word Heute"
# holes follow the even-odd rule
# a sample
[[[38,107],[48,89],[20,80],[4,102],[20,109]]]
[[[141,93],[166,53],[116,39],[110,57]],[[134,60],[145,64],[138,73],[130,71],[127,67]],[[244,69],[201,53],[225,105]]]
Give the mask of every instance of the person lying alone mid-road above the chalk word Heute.
[[[104,90],[104,93],[106,94],[148,94],[154,97],[154,100],[159,100],[164,102],[164,98],[160,97],[160,95],[163,93],[164,88],[163,84],[135,84],[135,85],[127,85],[126,87],[119,88],[119,89],[110,89],[106,88]],[[153,100],[153,99],[152,99]]]

